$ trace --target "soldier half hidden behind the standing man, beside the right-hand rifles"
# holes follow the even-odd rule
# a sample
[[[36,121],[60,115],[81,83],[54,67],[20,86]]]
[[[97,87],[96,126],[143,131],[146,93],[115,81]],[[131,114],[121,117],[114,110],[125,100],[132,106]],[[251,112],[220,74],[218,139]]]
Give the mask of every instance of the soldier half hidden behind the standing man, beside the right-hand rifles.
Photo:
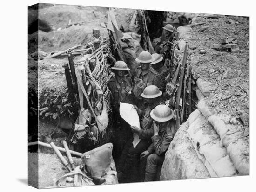
[[[161,79],[160,90],[164,92],[166,83],[167,83],[164,78],[168,75],[168,69],[166,65],[163,63],[163,57],[161,55],[154,53],[152,54],[152,57],[154,58],[154,61],[150,63],[150,65],[160,75],[160,79]]]

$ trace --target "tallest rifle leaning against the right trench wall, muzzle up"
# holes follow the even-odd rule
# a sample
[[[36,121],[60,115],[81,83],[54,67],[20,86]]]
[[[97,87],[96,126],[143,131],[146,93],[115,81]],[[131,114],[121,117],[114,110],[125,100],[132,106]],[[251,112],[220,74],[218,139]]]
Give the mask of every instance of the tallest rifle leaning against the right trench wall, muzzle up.
[[[184,50],[183,60],[182,60],[179,87],[178,87],[178,90],[177,90],[177,97],[176,97],[175,110],[176,110],[177,119],[176,119],[176,130],[175,130],[175,132],[177,132],[177,130],[180,126],[180,123],[181,123],[181,117],[180,117],[180,113],[179,113],[179,105],[180,105],[180,98],[181,98],[181,93],[182,93],[183,77],[184,77],[184,72],[185,72],[185,68],[186,68],[186,64],[187,64],[188,49],[189,49],[189,42],[187,41],[186,46],[185,46],[185,50]]]

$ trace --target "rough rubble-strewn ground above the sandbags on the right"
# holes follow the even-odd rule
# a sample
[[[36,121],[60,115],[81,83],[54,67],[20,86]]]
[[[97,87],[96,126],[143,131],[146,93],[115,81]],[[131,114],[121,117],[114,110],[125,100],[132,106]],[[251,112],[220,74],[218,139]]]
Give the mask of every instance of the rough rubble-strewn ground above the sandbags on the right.
[[[189,60],[193,70],[204,80],[215,85],[207,96],[210,110],[215,114],[227,114],[241,125],[245,136],[249,135],[249,18],[225,16],[219,19],[202,19],[203,26],[192,29]],[[239,47],[238,53],[211,49],[226,38]],[[203,48],[206,53],[200,54]]]

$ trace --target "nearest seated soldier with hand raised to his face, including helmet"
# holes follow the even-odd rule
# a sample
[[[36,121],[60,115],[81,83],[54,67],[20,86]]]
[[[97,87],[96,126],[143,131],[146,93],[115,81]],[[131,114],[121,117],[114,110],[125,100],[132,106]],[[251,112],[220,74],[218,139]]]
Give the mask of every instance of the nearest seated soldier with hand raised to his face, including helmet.
[[[143,130],[132,126],[133,132],[141,139],[150,138],[152,144],[146,151],[141,153],[148,156],[144,181],[154,181],[158,166],[162,166],[164,155],[173,140],[175,134],[174,112],[167,105],[158,105],[150,112],[150,116],[155,120],[150,129]]]

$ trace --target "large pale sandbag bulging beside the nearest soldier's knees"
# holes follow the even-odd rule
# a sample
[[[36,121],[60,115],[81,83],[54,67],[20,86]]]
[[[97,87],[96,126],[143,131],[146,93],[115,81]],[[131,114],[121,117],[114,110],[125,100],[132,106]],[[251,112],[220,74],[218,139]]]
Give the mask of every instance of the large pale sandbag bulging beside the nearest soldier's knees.
[[[211,177],[189,140],[188,133],[186,132],[188,128],[188,122],[183,123],[170,143],[162,165],[160,180]]]

